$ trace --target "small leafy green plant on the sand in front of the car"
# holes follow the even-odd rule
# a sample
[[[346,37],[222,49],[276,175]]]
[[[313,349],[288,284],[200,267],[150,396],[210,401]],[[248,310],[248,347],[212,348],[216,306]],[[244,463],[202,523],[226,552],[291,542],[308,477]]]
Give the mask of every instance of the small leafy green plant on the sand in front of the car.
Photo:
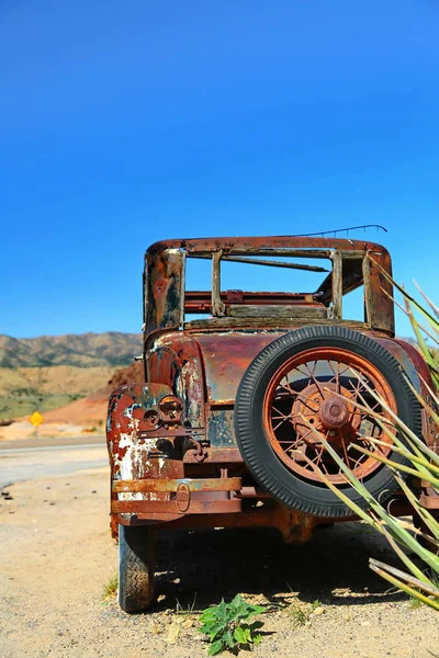
[[[240,594],[236,594],[230,603],[225,603],[223,599],[219,605],[204,610],[199,631],[209,635],[209,655],[216,656],[224,649],[238,654],[241,648],[251,649],[258,645],[262,639],[259,631],[263,623],[255,621],[249,624],[248,621],[263,612],[266,608],[247,603]]]

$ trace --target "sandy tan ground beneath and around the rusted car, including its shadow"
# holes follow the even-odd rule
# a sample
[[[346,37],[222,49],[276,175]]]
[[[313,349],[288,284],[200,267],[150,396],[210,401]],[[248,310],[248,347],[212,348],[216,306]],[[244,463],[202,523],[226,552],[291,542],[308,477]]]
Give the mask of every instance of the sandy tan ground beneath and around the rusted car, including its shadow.
[[[319,531],[284,546],[267,531],[162,532],[159,603],[127,615],[104,583],[116,569],[109,532],[106,468],[46,476],[0,497],[2,658],[198,658],[201,609],[237,592],[267,603],[266,636],[254,655],[304,658],[439,656],[439,617],[386,592],[369,556],[392,560],[365,526]],[[311,603],[322,605],[311,612]],[[297,606],[309,617],[296,625]],[[243,653],[241,655],[246,655]]]

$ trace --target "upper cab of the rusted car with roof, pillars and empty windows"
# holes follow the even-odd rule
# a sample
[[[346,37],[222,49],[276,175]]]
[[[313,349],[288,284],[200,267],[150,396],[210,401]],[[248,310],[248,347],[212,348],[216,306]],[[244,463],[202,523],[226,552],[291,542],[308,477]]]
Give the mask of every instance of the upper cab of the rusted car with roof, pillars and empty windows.
[[[393,333],[393,304],[383,297],[392,286],[379,270],[391,271],[389,253],[352,240],[309,243],[282,236],[153,245],[145,263],[146,332],[182,329],[191,320],[192,328],[213,330],[341,320],[364,326],[365,288],[365,324]]]

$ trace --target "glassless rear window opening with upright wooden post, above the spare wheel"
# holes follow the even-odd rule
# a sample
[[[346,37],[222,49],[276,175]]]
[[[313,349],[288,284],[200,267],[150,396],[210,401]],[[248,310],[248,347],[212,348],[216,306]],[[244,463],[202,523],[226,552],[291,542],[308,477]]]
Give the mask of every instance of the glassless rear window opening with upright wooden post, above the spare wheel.
[[[331,280],[333,262],[322,252],[317,256],[317,252],[314,258],[309,250],[306,258],[281,257],[279,253],[188,256],[184,320],[194,319],[194,316],[196,319],[212,316],[336,317],[334,295],[325,297],[320,291]]]

